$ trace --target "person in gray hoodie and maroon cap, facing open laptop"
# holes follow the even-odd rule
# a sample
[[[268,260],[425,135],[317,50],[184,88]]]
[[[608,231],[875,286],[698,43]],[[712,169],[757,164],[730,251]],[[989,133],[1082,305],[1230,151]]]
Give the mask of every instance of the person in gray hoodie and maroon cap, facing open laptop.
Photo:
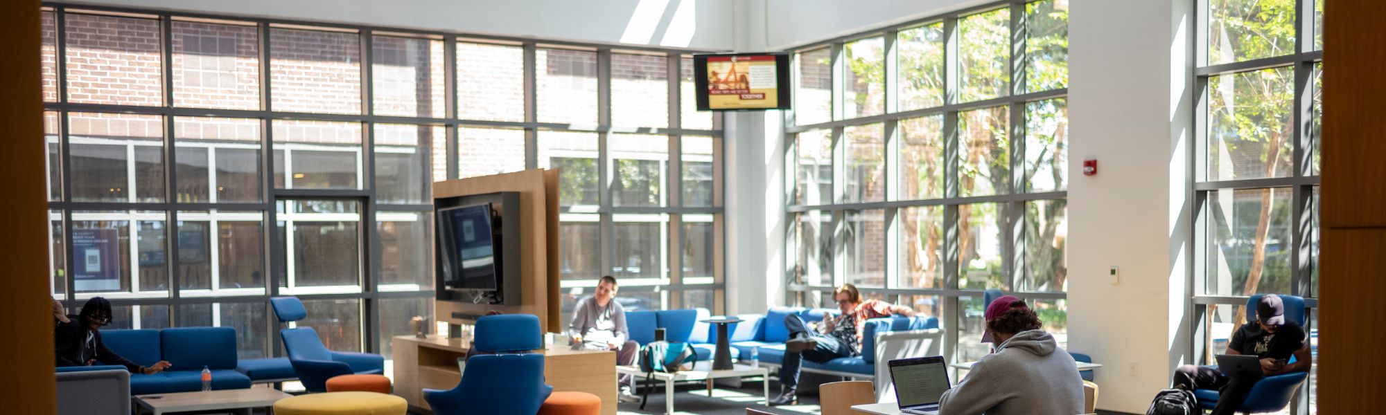
[[[1078,415],[1082,378],[1040,317],[1015,296],[987,306],[983,343],[995,350],[972,365],[958,386],[944,391],[938,415]]]

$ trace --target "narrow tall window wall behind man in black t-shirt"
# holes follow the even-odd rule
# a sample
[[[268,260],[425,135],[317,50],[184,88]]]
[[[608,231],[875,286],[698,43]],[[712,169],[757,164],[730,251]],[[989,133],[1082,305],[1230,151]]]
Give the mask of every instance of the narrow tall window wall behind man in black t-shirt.
[[[1211,364],[1227,349],[1246,322],[1247,296],[1258,293],[1304,297],[1317,346],[1324,0],[1196,6],[1196,360]],[[1314,412],[1310,374],[1288,412]]]

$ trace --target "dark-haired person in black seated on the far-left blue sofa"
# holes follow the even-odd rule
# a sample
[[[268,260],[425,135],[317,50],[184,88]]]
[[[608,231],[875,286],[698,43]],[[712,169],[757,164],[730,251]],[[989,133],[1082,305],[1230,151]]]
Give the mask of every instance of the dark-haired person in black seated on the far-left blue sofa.
[[[101,342],[101,326],[108,324],[111,324],[111,302],[103,297],[91,297],[86,304],[82,304],[82,313],[68,315],[68,321],[58,324],[53,333],[53,343],[57,346],[57,365],[122,365],[130,374],[144,375],[158,374],[170,367],[165,360],[152,367],[144,367],[107,349],[105,343]]]

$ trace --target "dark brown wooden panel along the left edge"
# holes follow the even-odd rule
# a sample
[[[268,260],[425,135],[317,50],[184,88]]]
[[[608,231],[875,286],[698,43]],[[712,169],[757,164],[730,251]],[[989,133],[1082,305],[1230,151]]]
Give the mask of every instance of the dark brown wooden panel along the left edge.
[[[0,376],[4,414],[54,414],[53,299],[49,296],[47,190],[39,79],[39,1],[18,0],[0,12],[0,177],[4,177],[4,297],[0,300]]]

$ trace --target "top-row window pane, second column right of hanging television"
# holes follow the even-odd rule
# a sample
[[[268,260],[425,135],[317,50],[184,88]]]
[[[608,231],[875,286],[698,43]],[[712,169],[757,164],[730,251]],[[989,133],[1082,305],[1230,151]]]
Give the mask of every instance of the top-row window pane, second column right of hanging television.
[[[847,71],[843,72],[844,118],[886,112],[886,39],[870,37],[843,44]]]

